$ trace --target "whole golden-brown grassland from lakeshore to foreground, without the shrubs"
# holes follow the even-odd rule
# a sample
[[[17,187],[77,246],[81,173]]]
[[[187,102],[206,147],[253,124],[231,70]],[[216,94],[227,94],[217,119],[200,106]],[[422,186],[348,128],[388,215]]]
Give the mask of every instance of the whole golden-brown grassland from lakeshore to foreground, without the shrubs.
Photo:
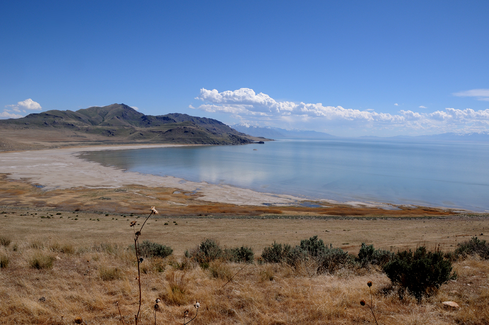
[[[174,255],[141,263],[139,324],[155,324],[156,298],[162,300],[156,324],[183,324],[186,308],[194,315],[195,300],[201,303],[195,325],[375,324],[359,304],[370,301],[370,280],[378,324],[489,324],[489,262],[477,257],[455,262],[458,279],[421,303],[400,301],[375,268],[317,275],[307,265],[252,264],[224,285],[244,264],[218,261],[212,272],[183,257],[205,238],[225,247],[251,246],[258,257],[274,240],[296,245],[313,235],[353,254],[362,242],[392,251],[420,245],[450,251],[474,235],[485,239],[487,214],[341,205],[268,209],[206,203],[174,194],[174,188],[43,191],[5,177],[0,186],[0,235],[12,240],[0,246],[0,256],[9,260],[0,269],[0,324],[122,324],[115,302],[125,324],[133,324],[137,264],[128,250],[129,222],[142,223],[150,206],[160,215],[148,220],[140,238],[171,246]],[[52,267],[32,268],[35,258]],[[444,301],[461,308],[446,309]]]

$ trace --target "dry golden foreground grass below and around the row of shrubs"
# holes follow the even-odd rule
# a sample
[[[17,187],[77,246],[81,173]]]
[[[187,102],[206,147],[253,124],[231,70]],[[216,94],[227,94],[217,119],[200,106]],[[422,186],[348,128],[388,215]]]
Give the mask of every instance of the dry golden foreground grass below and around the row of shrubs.
[[[2,324],[73,324],[76,318],[88,324],[121,324],[115,302],[126,324],[132,324],[138,304],[137,271],[121,257],[124,252],[97,251],[99,245],[76,247],[74,254],[59,253],[51,269],[32,270],[30,256],[49,252],[20,245],[22,252],[9,251],[10,265],[0,273]],[[163,272],[151,269],[141,275],[141,324],[153,324],[156,298],[162,300],[157,324],[181,323],[183,311],[193,312],[195,300],[201,303],[195,324],[372,324],[372,314],[359,304],[362,299],[370,302],[370,280],[379,324],[488,324],[489,261],[477,258],[457,262],[457,281],[420,304],[410,296],[400,301],[387,277],[375,270],[311,276],[289,266],[252,264],[223,286],[227,278],[216,277],[215,269],[234,275],[243,264],[217,262],[214,271],[171,266],[178,267],[182,259],[159,259],[157,263],[166,265]],[[122,276],[102,276],[114,272]],[[461,308],[444,309],[441,302],[447,300]]]

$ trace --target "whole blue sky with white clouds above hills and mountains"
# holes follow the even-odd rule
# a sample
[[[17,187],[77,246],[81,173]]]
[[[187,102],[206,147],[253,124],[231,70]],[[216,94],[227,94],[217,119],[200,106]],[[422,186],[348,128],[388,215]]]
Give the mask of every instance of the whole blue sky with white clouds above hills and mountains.
[[[489,130],[488,1],[2,1],[0,12],[3,118],[125,103],[341,136]]]

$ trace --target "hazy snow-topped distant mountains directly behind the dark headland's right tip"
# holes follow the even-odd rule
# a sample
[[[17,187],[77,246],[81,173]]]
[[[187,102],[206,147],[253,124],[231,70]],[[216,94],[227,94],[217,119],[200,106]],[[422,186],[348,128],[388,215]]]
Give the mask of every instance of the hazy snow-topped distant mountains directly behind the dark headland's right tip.
[[[316,131],[303,131],[303,130],[286,130],[281,128],[275,128],[271,126],[254,126],[247,123],[231,125],[231,127],[239,132],[249,134],[253,137],[265,137],[265,138],[301,138],[301,139],[333,139],[337,138],[331,134],[316,132]]]

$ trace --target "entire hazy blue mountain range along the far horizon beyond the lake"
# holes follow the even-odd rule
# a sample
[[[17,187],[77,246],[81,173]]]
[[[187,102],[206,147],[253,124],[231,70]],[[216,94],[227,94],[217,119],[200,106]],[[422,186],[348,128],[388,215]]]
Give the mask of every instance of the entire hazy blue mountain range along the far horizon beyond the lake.
[[[332,136],[328,133],[303,130],[286,130],[271,126],[254,126],[247,123],[231,125],[231,127],[239,132],[243,132],[254,137],[266,138],[299,138],[299,139],[342,139],[342,137]],[[442,133],[430,136],[395,136],[395,137],[376,137],[363,136],[358,138],[343,139],[378,139],[378,140],[398,140],[398,141],[474,141],[474,142],[489,142],[489,131],[472,132],[472,133]]]

